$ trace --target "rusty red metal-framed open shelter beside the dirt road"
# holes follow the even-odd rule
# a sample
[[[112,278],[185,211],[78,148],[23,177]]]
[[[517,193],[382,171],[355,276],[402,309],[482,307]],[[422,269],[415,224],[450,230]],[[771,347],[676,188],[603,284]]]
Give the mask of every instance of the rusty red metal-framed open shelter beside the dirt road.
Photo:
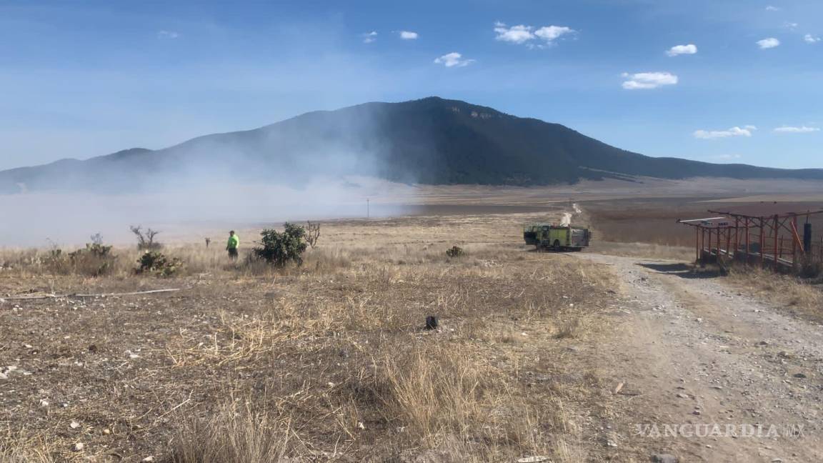
[[[787,273],[823,263],[823,236],[813,238],[811,223],[823,208],[799,212],[783,204],[760,203],[709,213],[715,215],[677,221],[695,228],[700,263],[725,268],[737,261]]]

